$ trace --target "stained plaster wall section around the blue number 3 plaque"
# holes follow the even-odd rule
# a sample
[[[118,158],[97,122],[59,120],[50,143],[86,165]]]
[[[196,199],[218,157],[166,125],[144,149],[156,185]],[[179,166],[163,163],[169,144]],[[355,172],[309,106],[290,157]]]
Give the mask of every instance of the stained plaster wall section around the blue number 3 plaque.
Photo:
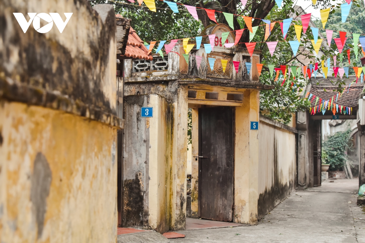
[[[153,117],[141,117],[153,107]],[[124,227],[170,228],[172,104],[159,95],[125,96]]]

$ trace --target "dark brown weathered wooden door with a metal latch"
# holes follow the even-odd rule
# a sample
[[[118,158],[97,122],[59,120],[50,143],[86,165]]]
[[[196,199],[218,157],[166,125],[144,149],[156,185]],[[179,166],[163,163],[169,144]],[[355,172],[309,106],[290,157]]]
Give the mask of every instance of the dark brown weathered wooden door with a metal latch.
[[[199,216],[233,221],[233,107],[199,109]]]

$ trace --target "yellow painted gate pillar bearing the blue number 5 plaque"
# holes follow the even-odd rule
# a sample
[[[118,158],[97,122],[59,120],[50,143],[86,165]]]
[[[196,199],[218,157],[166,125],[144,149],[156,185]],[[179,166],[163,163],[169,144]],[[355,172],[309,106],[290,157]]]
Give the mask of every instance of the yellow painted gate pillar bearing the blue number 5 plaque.
[[[258,130],[250,130],[250,122],[259,121],[259,112],[260,91],[245,91],[243,104],[235,112],[234,222],[237,223],[257,223]]]

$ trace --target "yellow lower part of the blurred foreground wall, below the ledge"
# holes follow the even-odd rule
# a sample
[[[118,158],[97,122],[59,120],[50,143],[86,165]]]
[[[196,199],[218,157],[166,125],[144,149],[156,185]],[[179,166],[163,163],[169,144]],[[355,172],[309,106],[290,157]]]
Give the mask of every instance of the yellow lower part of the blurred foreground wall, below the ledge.
[[[116,242],[115,127],[1,101],[0,132],[0,242]]]

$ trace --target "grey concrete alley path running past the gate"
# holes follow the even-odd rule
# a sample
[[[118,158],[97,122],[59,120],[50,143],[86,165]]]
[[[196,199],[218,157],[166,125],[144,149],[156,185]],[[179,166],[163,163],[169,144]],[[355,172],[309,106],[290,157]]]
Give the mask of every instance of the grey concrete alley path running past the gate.
[[[365,220],[360,219],[365,214],[354,194],[357,183],[338,180],[327,188],[324,183],[319,191],[295,191],[256,226],[178,231],[185,238],[170,242],[365,243]]]

